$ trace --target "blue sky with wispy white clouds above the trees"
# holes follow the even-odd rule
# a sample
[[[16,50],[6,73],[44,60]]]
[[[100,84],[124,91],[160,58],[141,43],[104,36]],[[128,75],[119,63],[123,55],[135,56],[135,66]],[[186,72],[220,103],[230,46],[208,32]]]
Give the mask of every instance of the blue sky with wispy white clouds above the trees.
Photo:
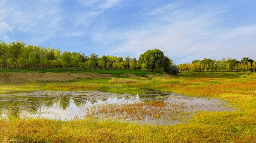
[[[0,41],[175,64],[256,60],[256,0],[0,0]]]

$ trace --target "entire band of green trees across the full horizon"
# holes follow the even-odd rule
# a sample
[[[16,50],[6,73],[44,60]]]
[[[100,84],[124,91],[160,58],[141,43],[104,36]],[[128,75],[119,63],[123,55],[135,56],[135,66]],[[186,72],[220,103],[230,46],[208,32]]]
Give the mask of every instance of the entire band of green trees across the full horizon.
[[[38,58],[40,60],[39,63],[35,62],[35,64],[32,64],[32,55],[30,55],[29,59],[29,54],[34,51],[36,51],[37,55],[39,55]],[[64,68],[64,72],[66,72],[66,68],[68,67],[76,67],[77,72],[79,67],[81,71],[83,70],[83,67],[86,67],[88,68],[88,72],[90,72],[90,68],[96,68],[100,66],[98,62],[100,59],[105,62],[105,66],[107,66],[109,68],[109,71],[112,72],[113,70],[111,70],[111,67],[118,68],[118,70],[119,68],[122,68],[122,72],[125,68],[127,68],[127,70],[131,68],[131,71],[133,71],[134,68],[136,68],[137,70],[141,68],[141,70],[143,71],[148,69],[153,71],[157,69],[158,71],[174,75],[177,75],[179,71],[256,72],[256,63],[254,62],[254,60],[248,57],[244,57],[240,61],[232,58],[222,58],[222,60],[217,61],[204,58],[204,60],[194,60],[192,61],[192,63],[183,63],[176,66],[175,64],[173,64],[173,61],[171,59],[169,59],[167,56],[164,56],[163,52],[158,49],[147,50],[144,54],[141,54],[138,61],[136,58],[130,58],[129,56],[125,56],[125,59],[123,59],[123,57],[121,56],[117,57],[111,55],[103,55],[101,58],[99,58],[98,55],[96,55],[95,53],[92,53],[88,58],[88,56],[85,56],[84,53],[81,54],[76,52],[64,52],[63,54],[65,57],[67,57],[67,55],[65,55],[66,53],[70,56],[70,62],[67,59],[65,63],[64,59],[61,60],[62,54],[61,50],[58,48],[54,49],[51,46],[43,48],[36,45],[25,45],[24,42],[20,43],[18,41],[10,43],[0,42],[0,67],[1,71],[3,70],[4,72],[8,71],[9,66],[12,69],[14,66],[16,66],[16,72],[18,70],[22,70],[22,72],[24,72],[24,68],[32,68],[33,71],[34,68],[38,68],[38,72],[45,72],[44,68],[48,68],[48,70],[50,71],[51,67],[53,67],[55,71],[56,68],[58,68],[59,70]],[[168,59],[170,61],[168,61]],[[38,61],[38,59],[35,60]],[[13,61],[15,62],[15,64],[13,63]],[[133,62],[130,63],[131,61],[136,62],[135,67]],[[123,65],[123,63],[121,62],[123,62],[125,65]],[[105,66],[101,65],[100,67],[104,69]],[[28,71],[28,69],[26,69],[25,71]],[[146,74],[141,75],[146,76]]]

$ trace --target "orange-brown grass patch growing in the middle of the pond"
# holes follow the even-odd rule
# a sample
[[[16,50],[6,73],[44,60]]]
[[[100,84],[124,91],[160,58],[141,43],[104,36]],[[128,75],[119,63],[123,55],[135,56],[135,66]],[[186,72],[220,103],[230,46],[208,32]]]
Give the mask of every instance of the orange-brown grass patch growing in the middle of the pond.
[[[176,120],[188,114],[189,107],[183,103],[170,103],[161,101],[135,102],[123,104],[100,104],[88,107],[87,116],[103,116],[105,118],[131,119],[131,120]]]

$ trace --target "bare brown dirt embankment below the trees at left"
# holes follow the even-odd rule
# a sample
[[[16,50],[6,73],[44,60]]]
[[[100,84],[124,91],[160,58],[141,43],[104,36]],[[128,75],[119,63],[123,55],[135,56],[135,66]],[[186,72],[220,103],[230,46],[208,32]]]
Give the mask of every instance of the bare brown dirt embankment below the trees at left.
[[[110,74],[99,73],[0,73],[0,82],[64,81],[73,78],[101,78]]]

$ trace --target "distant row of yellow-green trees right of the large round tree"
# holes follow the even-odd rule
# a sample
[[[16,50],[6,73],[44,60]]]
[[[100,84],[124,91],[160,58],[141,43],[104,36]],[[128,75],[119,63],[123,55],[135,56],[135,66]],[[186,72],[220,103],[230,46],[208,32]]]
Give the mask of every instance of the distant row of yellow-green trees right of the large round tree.
[[[246,57],[240,61],[232,58],[222,58],[222,60],[204,58],[204,60],[194,60],[191,64],[179,64],[178,68],[186,72],[256,72],[256,62]]]

